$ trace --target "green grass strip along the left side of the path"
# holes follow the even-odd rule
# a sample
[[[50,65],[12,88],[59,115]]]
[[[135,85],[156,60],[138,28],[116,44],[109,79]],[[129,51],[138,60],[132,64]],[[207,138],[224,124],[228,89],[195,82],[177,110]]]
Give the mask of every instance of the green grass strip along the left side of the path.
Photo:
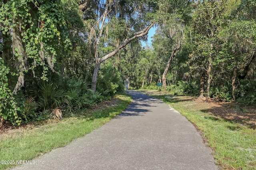
[[[58,123],[49,123],[14,136],[0,138],[0,160],[31,160],[54,148],[63,147],[72,140],[101,127],[121,113],[132,101],[128,95],[117,95],[118,103],[87,116],[65,118]],[[0,164],[0,169],[13,165]]]

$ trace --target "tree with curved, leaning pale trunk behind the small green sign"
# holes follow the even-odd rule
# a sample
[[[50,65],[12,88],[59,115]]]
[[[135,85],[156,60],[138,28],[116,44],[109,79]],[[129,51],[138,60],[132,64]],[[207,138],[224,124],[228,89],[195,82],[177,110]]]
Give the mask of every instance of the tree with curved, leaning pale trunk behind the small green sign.
[[[190,20],[190,1],[179,0],[178,2],[166,1],[160,6],[162,15],[158,17],[160,32],[162,36],[168,38],[168,45],[170,49],[165,53],[169,53],[168,61],[162,75],[163,87],[166,89],[166,75],[170,67],[170,63],[176,52],[180,50],[183,39],[183,28]],[[160,43],[160,42],[158,42]],[[156,43],[154,43],[156,45]],[[158,45],[156,45],[158,46]]]

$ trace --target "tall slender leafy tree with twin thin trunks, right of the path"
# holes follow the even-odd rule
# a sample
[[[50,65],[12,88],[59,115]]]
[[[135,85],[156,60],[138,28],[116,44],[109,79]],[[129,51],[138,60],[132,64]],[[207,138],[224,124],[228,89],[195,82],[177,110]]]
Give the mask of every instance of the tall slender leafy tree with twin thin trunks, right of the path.
[[[200,95],[204,93],[204,76],[207,75],[206,98],[210,94],[210,84],[216,71],[213,66],[217,64],[218,55],[218,30],[224,22],[224,2],[215,0],[203,0],[195,4],[192,28],[194,36],[194,50],[191,57],[192,69],[200,71],[201,87]]]

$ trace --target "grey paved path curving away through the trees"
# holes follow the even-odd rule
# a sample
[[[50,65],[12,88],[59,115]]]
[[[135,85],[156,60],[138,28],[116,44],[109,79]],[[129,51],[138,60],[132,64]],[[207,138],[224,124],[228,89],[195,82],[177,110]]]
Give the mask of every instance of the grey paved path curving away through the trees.
[[[217,170],[196,128],[160,99],[134,101],[106,125],[18,170]]]

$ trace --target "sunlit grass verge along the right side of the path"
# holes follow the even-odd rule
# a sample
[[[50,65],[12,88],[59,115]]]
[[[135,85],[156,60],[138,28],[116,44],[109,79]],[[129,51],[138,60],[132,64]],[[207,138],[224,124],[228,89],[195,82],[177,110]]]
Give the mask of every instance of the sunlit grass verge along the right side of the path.
[[[202,105],[207,103],[198,103],[192,97],[141,92],[162,99],[192,122],[213,149],[220,168],[256,170],[256,130],[205,112]]]

